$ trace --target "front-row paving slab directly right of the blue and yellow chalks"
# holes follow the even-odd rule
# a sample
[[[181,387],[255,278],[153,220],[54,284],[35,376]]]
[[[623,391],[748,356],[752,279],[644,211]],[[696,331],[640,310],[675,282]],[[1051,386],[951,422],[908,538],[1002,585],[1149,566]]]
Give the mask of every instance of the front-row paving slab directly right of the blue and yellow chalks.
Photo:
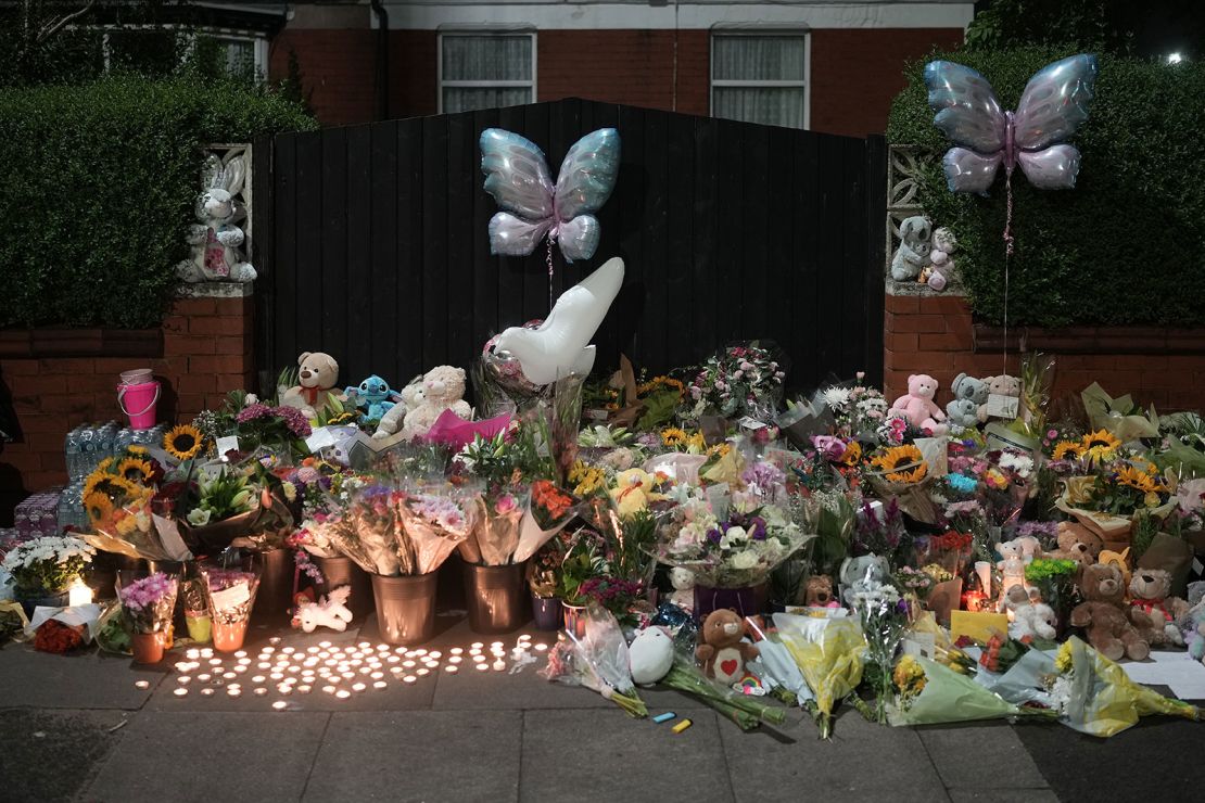
[[[810,721],[778,731],[787,740],[772,731],[719,725],[739,802],[798,802],[805,791],[829,801],[947,799],[924,744],[909,728],[875,725],[853,710],[839,715],[831,742],[822,742]]]

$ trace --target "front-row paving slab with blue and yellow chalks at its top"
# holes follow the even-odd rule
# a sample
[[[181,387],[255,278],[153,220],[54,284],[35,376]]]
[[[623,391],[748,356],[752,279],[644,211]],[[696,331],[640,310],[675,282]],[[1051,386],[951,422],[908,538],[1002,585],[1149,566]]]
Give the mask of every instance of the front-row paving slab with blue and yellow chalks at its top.
[[[619,710],[524,712],[519,797],[524,803],[731,801],[716,716],[693,712],[690,720],[689,728],[674,733],[670,722],[634,720]],[[793,799],[800,799],[798,792]]]

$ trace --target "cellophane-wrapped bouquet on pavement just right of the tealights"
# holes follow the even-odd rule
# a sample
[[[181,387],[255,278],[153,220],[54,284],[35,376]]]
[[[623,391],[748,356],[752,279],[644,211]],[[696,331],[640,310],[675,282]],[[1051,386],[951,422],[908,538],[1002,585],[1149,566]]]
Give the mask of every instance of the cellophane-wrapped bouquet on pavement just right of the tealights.
[[[636,686],[631,681],[628,643],[619,622],[605,608],[592,603],[586,608],[584,634],[557,642],[548,651],[548,665],[540,674],[569,686],[586,686],[622,708],[629,716],[648,716]]]

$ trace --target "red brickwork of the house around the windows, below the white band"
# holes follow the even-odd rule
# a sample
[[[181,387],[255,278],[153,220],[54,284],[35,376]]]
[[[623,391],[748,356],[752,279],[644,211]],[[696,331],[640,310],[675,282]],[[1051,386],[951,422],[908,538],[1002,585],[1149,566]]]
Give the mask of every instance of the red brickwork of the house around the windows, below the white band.
[[[587,98],[670,111],[672,30],[541,30],[536,35],[536,94],[541,101]],[[271,77],[296,51],[306,91],[323,125],[374,119],[376,34],[360,30],[286,30],[272,43]],[[892,98],[904,88],[904,65],[934,47],[962,42],[953,28],[812,31],[811,128],[829,134],[881,134]],[[394,118],[439,108],[437,34],[389,35],[389,112]],[[710,113],[711,33],[677,33],[677,111]]]

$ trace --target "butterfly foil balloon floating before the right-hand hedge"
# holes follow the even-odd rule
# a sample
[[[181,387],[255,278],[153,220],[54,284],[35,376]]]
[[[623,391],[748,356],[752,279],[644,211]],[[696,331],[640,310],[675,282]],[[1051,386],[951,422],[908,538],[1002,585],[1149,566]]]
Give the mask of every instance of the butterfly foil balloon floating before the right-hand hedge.
[[[942,165],[953,193],[986,193],[1004,165],[1021,165],[1039,189],[1070,189],[1080,152],[1069,144],[1088,119],[1097,81],[1097,57],[1081,53],[1042,67],[1021,95],[1016,112],[1001,111],[992,85],[975,70],[952,61],[924,66],[934,125],[956,147]]]

